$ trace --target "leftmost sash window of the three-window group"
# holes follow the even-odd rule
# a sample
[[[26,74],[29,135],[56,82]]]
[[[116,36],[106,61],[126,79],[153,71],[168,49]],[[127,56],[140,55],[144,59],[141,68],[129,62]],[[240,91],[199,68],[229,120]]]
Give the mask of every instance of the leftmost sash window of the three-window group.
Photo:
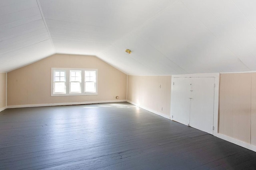
[[[54,70],[54,94],[66,94],[66,71]]]

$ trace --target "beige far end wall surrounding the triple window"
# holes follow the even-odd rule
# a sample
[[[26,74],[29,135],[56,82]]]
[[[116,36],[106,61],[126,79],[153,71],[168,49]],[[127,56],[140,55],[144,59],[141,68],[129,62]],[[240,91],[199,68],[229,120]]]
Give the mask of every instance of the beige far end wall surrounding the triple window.
[[[98,95],[51,96],[51,68],[98,68]],[[126,74],[94,56],[56,54],[8,72],[7,78],[8,106],[126,100]]]

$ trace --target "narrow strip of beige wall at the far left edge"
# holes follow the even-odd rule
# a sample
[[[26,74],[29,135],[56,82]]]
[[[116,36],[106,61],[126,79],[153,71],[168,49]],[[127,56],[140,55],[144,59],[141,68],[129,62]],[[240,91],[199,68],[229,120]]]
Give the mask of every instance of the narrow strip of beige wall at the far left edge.
[[[6,107],[6,73],[0,72],[0,111]]]

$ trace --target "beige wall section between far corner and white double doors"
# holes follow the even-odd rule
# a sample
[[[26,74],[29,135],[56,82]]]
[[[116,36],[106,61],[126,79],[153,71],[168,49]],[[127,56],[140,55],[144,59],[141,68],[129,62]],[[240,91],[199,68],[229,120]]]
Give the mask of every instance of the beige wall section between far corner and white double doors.
[[[170,99],[171,76],[128,76],[128,101],[169,118]]]

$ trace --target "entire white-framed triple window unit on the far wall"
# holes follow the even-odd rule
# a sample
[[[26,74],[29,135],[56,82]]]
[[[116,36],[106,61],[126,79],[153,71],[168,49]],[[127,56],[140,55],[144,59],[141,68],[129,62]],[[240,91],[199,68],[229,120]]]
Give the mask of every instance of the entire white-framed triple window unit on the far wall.
[[[97,95],[97,69],[52,68],[51,96]]]

